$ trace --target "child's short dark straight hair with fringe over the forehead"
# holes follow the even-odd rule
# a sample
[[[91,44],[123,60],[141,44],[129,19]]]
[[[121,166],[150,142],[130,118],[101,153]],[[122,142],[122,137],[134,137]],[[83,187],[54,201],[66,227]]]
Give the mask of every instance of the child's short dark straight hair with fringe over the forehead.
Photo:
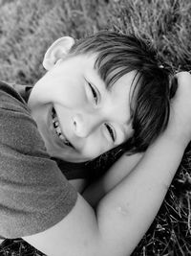
[[[159,66],[151,42],[136,35],[101,31],[76,41],[70,54],[96,54],[95,67],[106,86],[137,71],[130,109],[135,132],[120,149],[145,151],[167,126],[172,80],[170,69]]]

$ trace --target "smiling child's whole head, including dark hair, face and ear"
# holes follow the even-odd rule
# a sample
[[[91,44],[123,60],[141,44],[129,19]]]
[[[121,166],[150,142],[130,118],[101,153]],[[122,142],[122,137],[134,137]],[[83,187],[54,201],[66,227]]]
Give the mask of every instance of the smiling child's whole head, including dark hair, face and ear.
[[[54,157],[86,161],[118,145],[143,151],[167,125],[169,72],[135,35],[63,37],[44,66],[29,105]]]

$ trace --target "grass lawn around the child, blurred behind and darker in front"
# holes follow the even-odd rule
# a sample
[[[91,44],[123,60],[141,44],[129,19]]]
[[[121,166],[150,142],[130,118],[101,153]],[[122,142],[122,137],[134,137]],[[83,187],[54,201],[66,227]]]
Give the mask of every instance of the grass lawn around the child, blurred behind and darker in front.
[[[0,0],[1,80],[32,84],[44,74],[41,60],[54,39],[100,29],[147,35],[163,65],[191,70],[190,0]],[[190,169],[189,145],[158,216],[132,256],[191,255]],[[18,239],[2,244],[0,255],[43,254]]]

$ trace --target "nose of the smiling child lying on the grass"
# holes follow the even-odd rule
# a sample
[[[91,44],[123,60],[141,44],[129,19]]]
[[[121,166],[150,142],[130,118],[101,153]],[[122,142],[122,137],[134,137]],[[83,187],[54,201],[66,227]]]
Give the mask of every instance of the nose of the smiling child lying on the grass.
[[[73,117],[74,133],[78,137],[88,137],[102,123],[103,120],[96,114],[75,114]]]

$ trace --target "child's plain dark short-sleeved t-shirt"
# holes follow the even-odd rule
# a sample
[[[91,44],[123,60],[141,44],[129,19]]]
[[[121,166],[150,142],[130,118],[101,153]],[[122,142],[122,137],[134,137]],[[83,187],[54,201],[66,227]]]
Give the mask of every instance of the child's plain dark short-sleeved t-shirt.
[[[0,237],[48,229],[69,214],[76,198],[47,153],[28,105],[0,82]]]

